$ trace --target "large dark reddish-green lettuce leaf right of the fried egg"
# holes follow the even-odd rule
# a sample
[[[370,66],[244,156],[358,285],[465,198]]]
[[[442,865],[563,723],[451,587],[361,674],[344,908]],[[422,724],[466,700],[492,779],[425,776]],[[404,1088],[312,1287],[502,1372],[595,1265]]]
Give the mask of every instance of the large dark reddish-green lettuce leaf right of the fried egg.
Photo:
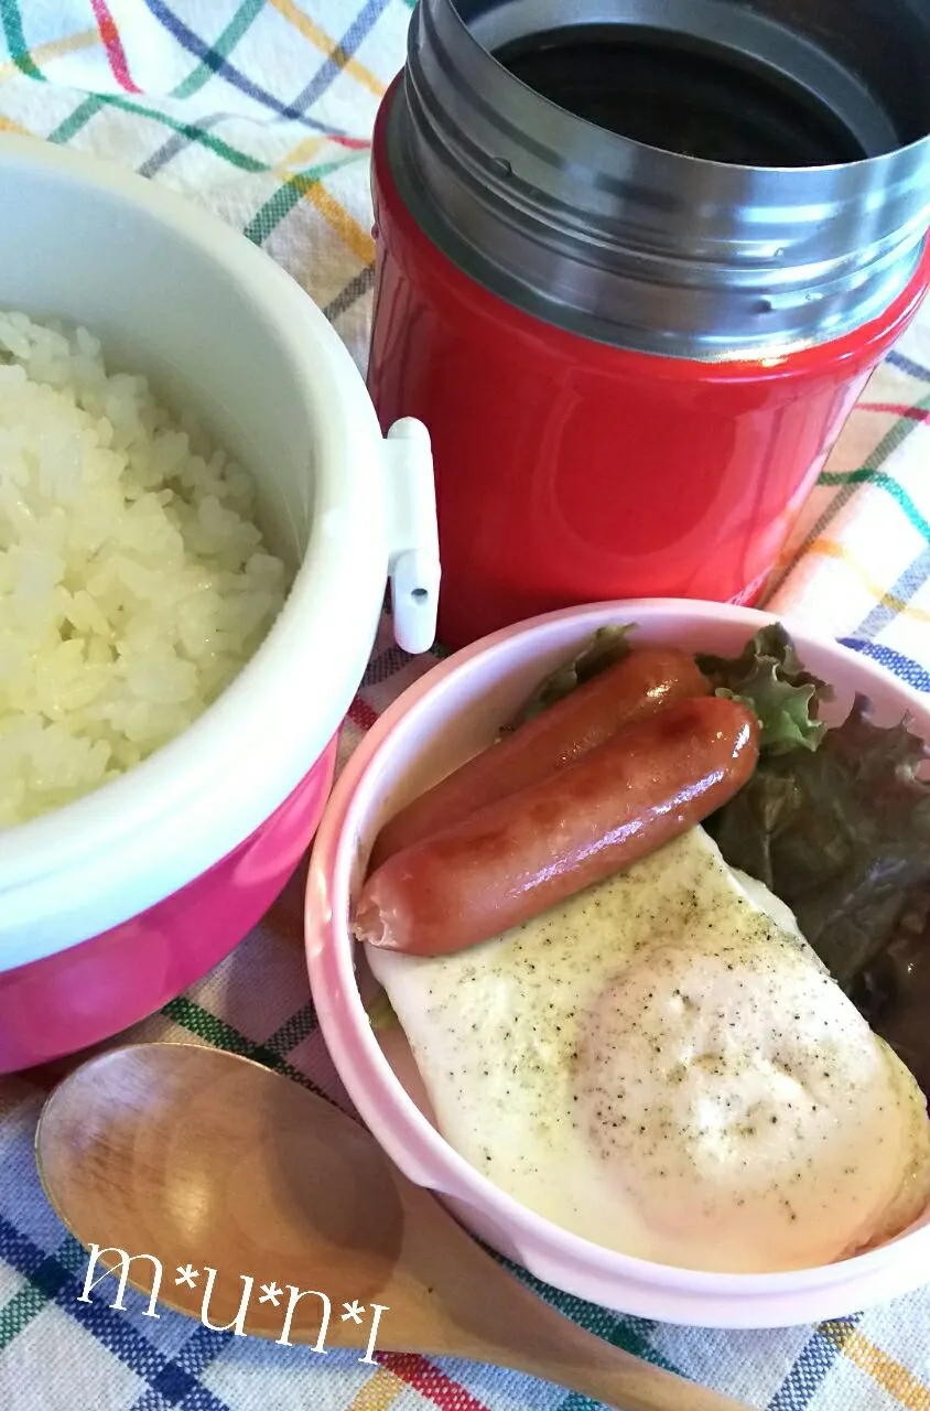
[[[731,866],[790,906],[848,993],[930,883],[927,749],[907,718],[882,728],[869,714],[859,696],[816,751],[762,756],[706,824]]]

